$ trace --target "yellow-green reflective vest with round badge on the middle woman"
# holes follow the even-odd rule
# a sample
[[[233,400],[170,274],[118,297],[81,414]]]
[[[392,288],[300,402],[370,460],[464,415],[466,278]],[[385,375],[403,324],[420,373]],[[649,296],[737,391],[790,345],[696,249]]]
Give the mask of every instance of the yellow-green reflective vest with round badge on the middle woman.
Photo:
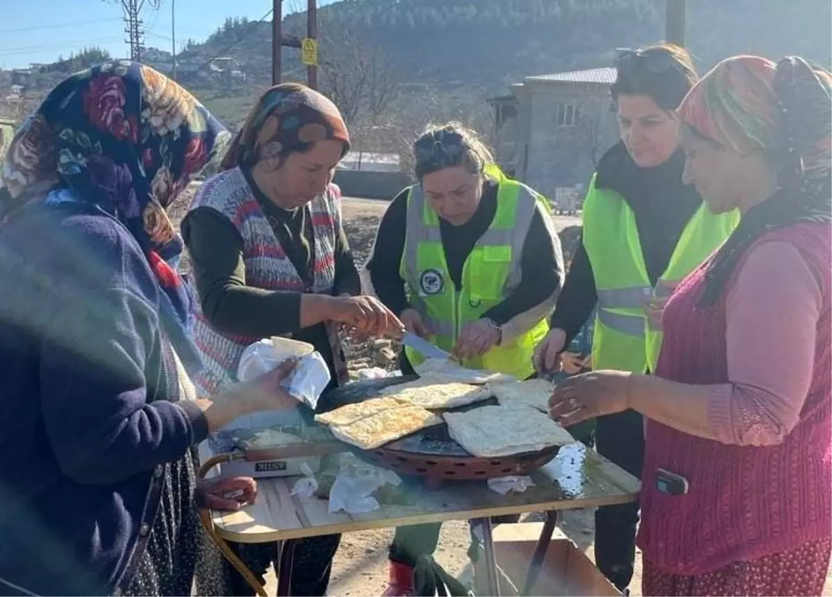
[[[432,333],[431,341],[445,350],[453,348],[464,323],[503,301],[520,282],[522,247],[540,198],[516,181],[500,180],[497,211],[463,265],[459,292],[448,274],[438,215],[425,199],[421,185],[410,188],[400,273],[410,306],[422,315]],[[534,347],[547,329],[542,320],[521,337],[463,364],[528,377],[533,373]],[[418,353],[405,350],[411,363],[423,361]]]

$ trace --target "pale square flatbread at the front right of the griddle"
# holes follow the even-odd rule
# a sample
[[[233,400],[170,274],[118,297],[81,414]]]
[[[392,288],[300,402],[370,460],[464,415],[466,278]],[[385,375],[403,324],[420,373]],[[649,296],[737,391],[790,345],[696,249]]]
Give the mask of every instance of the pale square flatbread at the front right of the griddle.
[[[566,429],[530,407],[488,406],[445,412],[448,434],[481,458],[513,456],[575,442]]]

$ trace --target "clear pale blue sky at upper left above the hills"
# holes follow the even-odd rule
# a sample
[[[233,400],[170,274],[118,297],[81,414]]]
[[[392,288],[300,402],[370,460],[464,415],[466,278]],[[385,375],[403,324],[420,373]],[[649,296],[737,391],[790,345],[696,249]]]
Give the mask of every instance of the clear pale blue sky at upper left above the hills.
[[[270,11],[272,0],[161,0],[159,10],[144,7],[145,45],[171,51],[171,2],[176,8],[176,46],[190,37],[204,41],[225,17],[256,20]],[[319,0],[319,6],[334,0]],[[32,62],[55,62],[84,47],[97,46],[114,57],[129,55],[120,0],[12,0],[0,7],[0,68]],[[149,2],[146,2],[146,4]],[[306,0],[284,0],[287,14]]]

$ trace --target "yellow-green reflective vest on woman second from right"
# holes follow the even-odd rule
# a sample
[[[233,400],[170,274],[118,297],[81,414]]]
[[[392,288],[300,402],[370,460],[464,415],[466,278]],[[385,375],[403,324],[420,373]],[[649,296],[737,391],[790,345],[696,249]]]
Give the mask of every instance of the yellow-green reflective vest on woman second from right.
[[[739,220],[736,212],[714,215],[704,203],[700,205],[654,289],[641,254],[636,216],[616,191],[597,189],[593,177],[583,204],[583,245],[598,296],[593,369],[656,370],[661,332],[651,329],[646,304],[654,297],[669,297],[676,284],[728,238]]]

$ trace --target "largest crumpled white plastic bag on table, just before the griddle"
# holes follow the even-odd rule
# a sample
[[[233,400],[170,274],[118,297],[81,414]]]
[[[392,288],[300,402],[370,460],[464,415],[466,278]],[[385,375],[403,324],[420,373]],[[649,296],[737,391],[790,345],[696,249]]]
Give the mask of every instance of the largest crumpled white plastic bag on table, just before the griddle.
[[[341,470],[329,490],[329,514],[344,511],[348,514],[364,514],[379,510],[379,501],[373,492],[390,483],[399,486],[402,480],[387,469],[360,461],[352,454],[341,456]]]

